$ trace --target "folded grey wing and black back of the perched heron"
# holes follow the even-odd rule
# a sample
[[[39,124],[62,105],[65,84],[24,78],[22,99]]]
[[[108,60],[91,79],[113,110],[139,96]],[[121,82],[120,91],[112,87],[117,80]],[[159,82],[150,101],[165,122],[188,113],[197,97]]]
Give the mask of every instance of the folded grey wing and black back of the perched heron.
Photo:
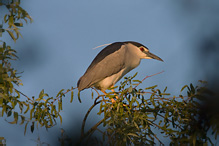
[[[118,73],[124,68],[124,61],[124,43],[117,42],[107,46],[95,57],[85,74],[79,79],[78,90],[89,88],[102,79]]]

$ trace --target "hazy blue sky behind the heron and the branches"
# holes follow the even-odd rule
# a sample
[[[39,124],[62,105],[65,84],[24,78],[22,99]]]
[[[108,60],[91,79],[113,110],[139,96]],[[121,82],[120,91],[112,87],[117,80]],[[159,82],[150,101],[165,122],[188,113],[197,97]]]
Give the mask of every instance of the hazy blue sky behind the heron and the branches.
[[[29,97],[38,96],[42,89],[56,96],[61,89],[76,87],[78,79],[102,49],[92,48],[118,41],[142,43],[164,60],[142,60],[126,75],[138,72],[136,78],[141,80],[164,71],[146,79],[139,88],[168,86],[167,92],[179,95],[184,85],[197,84],[198,80],[208,80],[219,73],[218,64],[212,63],[218,50],[214,50],[212,57],[200,49],[205,40],[219,34],[216,0],[28,0],[22,1],[21,6],[33,18],[33,23],[24,25],[23,38],[16,43],[6,34],[2,39],[18,52],[20,59],[13,65],[18,71],[24,71],[21,77],[24,86],[18,89]],[[7,146],[36,145],[34,140],[38,135],[41,141],[55,145],[61,128],[68,134],[80,131],[80,122],[93,103],[91,89],[82,91],[81,100],[79,103],[74,98],[70,103],[68,94],[63,100],[63,123],[48,132],[40,128],[32,134],[27,129],[24,136],[24,126],[10,125],[1,119],[0,136],[5,137]],[[88,118],[87,129],[101,119],[96,115],[98,110],[94,109]]]

